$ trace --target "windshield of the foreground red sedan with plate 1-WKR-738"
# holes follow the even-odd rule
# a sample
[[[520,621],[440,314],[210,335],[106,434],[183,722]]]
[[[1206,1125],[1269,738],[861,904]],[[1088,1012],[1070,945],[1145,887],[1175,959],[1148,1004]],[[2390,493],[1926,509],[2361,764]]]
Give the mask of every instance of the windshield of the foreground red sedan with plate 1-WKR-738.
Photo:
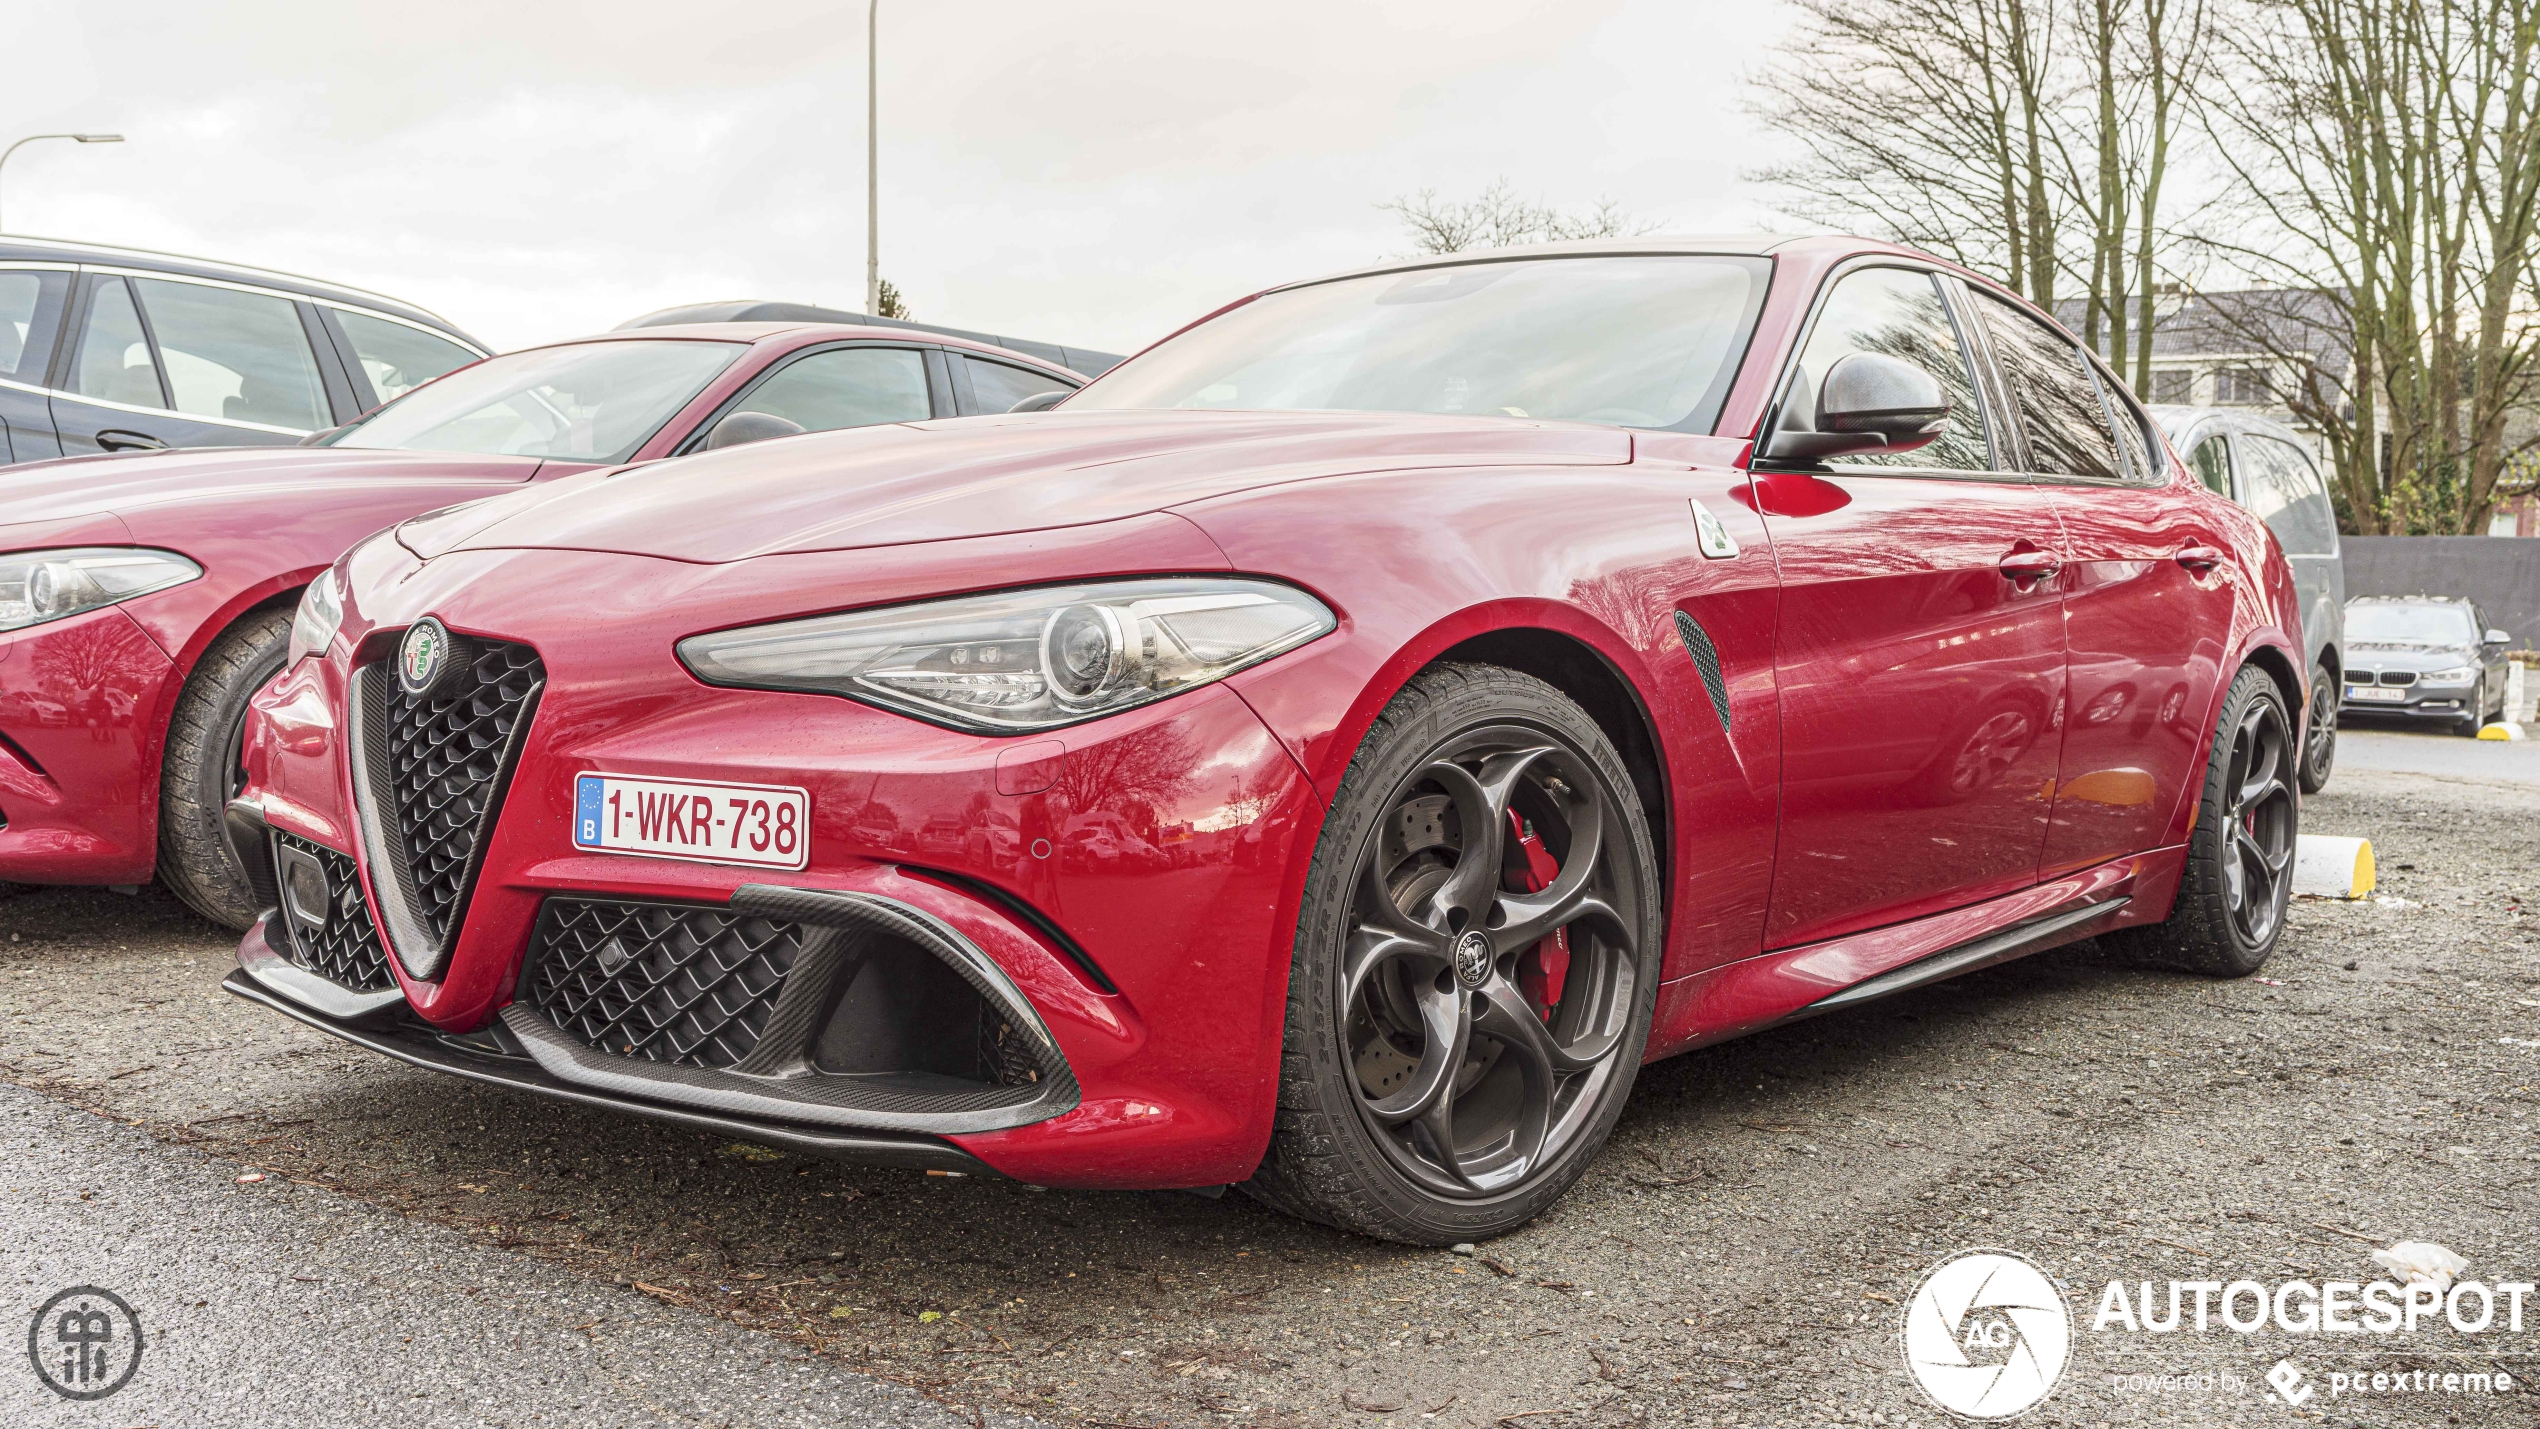
[[[1709,431],[1773,267],[1519,259],[1262,294],[1067,409],[1435,411]]]

